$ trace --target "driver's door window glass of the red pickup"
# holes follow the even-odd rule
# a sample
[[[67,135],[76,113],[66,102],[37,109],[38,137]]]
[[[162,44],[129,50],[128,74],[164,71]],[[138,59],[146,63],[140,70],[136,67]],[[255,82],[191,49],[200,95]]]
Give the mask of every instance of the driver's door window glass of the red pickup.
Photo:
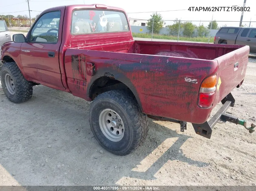
[[[57,43],[60,11],[43,14],[31,30],[30,42]]]

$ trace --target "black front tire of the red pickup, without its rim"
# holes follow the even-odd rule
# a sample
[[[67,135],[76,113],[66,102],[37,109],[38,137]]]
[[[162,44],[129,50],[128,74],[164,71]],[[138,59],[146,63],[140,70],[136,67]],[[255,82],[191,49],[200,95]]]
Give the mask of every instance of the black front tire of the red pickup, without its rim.
[[[5,84],[5,75],[9,74],[13,79],[13,84],[15,85],[14,94],[10,94]],[[20,69],[15,62],[4,63],[1,67],[0,72],[1,84],[5,96],[13,103],[22,103],[29,100],[33,94],[33,84],[27,81],[22,75]]]

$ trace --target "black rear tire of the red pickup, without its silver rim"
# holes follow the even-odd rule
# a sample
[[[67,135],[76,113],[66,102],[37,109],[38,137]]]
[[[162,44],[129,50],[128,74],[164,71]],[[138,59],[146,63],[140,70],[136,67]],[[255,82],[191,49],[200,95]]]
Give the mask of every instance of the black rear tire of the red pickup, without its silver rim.
[[[109,140],[100,129],[99,115],[105,109],[116,111],[123,120],[124,137],[118,142]],[[89,119],[96,140],[103,148],[116,155],[130,154],[142,145],[148,134],[147,115],[141,112],[137,101],[122,90],[98,95],[91,104]]]

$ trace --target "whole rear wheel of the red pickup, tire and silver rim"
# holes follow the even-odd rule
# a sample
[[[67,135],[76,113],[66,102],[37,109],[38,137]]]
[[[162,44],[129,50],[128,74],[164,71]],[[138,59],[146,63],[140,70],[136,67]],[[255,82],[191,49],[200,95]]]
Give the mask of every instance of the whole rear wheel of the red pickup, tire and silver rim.
[[[93,100],[90,126],[99,144],[117,155],[126,155],[140,146],[148,134],[148,117],[125,91],[107,91]]]

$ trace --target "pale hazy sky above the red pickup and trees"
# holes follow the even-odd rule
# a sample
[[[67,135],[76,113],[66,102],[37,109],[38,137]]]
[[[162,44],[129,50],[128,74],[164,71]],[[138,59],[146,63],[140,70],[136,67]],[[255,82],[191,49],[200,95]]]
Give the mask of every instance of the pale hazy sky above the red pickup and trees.
[[[152,3],[151,3],[152,2]],[[188,11],[189,7],[230,7],[233,5],[243,6],[244,0],[157,0],[157,1],[145,1],[145,0],[30,0],[31,17],[44,11],[47,8],[62,6],[62,5],[75,5],[75,4],[104,4],[114,7],[120,7],[125,9],[128,13],[129,18],[136,19],[149,19],[152,13],[134,13],[134,12],[148,12],[158,11],[163,17],[163,20],[175,20],[175,18],[193,22],[199,24],[201,21],[240,21],[241,11]],[[243,21],[256,21],[256,0],[247,0],[246,7],[250,7],[250,11],[244,11]],[[185,9],[185,10],[183,10]],[[28,14],[28,3],[25,0],[11,0],[5,1],[0,0],[0,14],[12,14],[17,16],[29,15]],[[170,11],[170,10],[183,10],[183,11]],[[22,12],[16,12],[22,11]],[[159,12],[166,11],[166,12]],[[8,13],[9,12],[9,13]],[[12,13],[13,12],[13,13]],[[171,21],[166,21],[166,24],[172,24]],[[209,22],[201,22],[205,26]],[[227,24],[228,26],[238,26],[239,22],[218,22],[219,26]],[[249,25],[249,23],[243,23]],[[252,23],[251,26],[256,26],[256,22]]]

